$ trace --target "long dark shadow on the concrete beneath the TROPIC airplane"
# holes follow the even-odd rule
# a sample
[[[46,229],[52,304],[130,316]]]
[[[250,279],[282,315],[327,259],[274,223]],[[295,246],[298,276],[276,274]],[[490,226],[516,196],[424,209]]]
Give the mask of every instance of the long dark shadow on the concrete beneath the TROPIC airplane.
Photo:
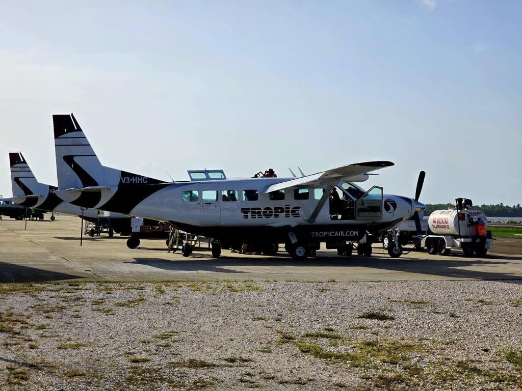
[[[199,257],[198,257],[199,258]],[[201,256],[200,258],[203,258]],[[191,262],[192,261],[192,262]],[[244,258],[238,259],[221,257],[219,259],[201,260],[195,259],[191,255],[186,260],[169,260],[157,258],[135,258],[134,261],[125,263],[135,263],[158,267],[165,271],[206,271],[216,273],[248,273],[235,270],[235,267],[258,266],[259,273],[263,273],[263,268],[270,267],[366,267],[382,269],[392,272],[416,273],[420,275],[440,276],[447,279],[469,278],[480,280],[520,280],[520,274],[506,274],[499,272],[485,272],[469,270],[472,266],[498,266],[509,262],[496,260],[454,260],[454,259],[408,259],[401,258],[390,260],[389,258],[364,258],[354,256],[351,258],[315,258],[308,261],[294,261],[291,258],[271,257],[271,258]],[[312,273],[311,273],[312,274]],[[367,275],[367,273],[366,273]],[[400,275],[396,277],[401,279]],[[376,279],[378,277],[376,276]],[[421,278],[422,279],[422,278]],[[515,283],[515,281],[513,281]]]

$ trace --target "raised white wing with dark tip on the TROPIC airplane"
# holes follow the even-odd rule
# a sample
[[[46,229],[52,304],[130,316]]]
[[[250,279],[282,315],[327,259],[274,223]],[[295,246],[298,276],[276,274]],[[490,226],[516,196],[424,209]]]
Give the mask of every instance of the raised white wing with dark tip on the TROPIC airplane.
[[[348,166],[326,170],[321,173],[279,182],[278,184],[269,186],[263,193],[287,189],[294,186],[337,185],[341,180],[347,182],[362,182],[368,179],[367,175],[365,176],[366,173],[393,165],[394,163],[386,161],[354,163]]]

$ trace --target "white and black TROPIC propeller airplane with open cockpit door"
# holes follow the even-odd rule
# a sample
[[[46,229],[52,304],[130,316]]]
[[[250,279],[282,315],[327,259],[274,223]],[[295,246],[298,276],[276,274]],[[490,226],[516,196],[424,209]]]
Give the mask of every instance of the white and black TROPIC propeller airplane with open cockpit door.
[[[221,247],[241,243],[262,246],[266,253],[285,243],[294,259],[314,254],[321,242],[343,255],[351,255],[352,243],[358,243],[358,254],[369,256],[377,233],[402,219],[419,219],[417,212],[425,209],[418,202],[423,172],[414,199],[383,194],[378,186],[365,191],[355,184],[392,162],[356,163],[290,178],[228,179],[222,170],[189,170],[190,181],[162,182],[103,166],[74,115],[53,115],[53,126],[58,197],[169,221],[188,233],[208,236],[215,258]],[[396,236],[393,239],[388,253],[400,256],[402,247]],[[186,244],[182,251],[188,256],[192,249]]]

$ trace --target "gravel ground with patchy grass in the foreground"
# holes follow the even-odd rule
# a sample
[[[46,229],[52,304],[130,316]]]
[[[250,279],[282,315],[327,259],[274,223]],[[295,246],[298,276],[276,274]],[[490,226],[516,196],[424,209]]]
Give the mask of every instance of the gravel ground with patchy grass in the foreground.
[[[522,281],[0,285],[0,389],[522,389]]]

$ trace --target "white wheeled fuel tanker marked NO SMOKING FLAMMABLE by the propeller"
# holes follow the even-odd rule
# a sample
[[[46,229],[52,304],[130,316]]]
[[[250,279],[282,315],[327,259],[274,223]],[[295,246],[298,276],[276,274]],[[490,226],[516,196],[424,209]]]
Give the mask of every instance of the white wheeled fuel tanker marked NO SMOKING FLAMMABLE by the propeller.
[[[456,209],[434,211],[428,218],[428,235],[421,240],[421,246],[430,254],[448,255],[460,249],[465,256],[485,256],[493,245],[491,231],[487,235],[475,234],[475,226],[481,220],[488,224],[488,218],[480,210],[470,209],[473,202],[457,198]]]

